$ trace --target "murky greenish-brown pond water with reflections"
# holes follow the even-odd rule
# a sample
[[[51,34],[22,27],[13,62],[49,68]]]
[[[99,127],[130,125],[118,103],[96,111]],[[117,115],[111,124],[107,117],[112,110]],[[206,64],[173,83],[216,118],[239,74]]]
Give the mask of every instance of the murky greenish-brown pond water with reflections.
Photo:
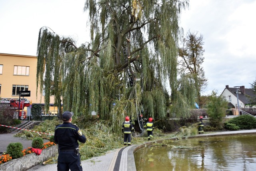
[[[137,171],[255,171],[255,140],[256,135],[169,140],[139,149],[134,159]]]

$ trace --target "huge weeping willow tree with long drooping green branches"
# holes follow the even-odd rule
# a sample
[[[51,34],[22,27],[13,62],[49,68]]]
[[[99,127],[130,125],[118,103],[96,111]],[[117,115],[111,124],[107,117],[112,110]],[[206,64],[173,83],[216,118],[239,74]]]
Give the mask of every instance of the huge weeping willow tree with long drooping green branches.
[[[114,131],[125,115],[136,119],[141,107],[145,117],[166,117],[166,89],[174,89],[177,77],[178,22],[186,6],[188,0],[86,0],[90,43],[77,47],[71,38],[41,28],[38,85],[42,89],[44,83],[46,92],[61,86],[54,93],[63,96],[64,110],[98,113],[112,121]]]

